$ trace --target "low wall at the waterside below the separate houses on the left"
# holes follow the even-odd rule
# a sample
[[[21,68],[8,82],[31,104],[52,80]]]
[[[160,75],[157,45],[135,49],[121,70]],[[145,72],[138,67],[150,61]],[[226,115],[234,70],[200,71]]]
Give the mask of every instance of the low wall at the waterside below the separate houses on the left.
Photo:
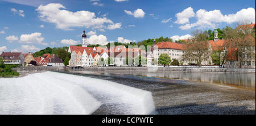
[[[20,68],[13,68],[15,72],[19,73],[37,73],[46,72],[49,70],[64,70],[63,66],[22,66]]]

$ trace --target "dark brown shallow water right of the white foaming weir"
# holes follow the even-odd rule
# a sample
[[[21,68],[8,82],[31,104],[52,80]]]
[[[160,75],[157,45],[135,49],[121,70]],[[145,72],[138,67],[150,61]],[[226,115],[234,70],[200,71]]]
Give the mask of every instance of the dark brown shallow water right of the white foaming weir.
[[[156,114],[255,115],[255,91],[252,90],[137,75],[86,73],[78,70],[64,73],[98,78],[150,91],[154,99]],[[102,111],[104,107],[93,114],[102,114]],[[111,114],[108,111],[104,112],[103,114]]]

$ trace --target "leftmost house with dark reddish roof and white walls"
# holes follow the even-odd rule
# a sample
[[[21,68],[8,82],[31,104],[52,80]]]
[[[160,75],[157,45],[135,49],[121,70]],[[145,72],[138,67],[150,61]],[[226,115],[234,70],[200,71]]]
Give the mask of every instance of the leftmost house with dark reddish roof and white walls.
[[[0,57],[3,58],[4,64],[24,66],[24,57],[22,52],[2,52]]]

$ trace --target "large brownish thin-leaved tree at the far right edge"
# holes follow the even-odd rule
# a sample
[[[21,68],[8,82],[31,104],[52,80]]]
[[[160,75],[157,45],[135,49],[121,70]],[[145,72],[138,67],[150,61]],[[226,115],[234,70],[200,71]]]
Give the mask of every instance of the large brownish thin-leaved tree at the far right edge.
[[[225,39],[228,48],[233,49],[238,60],[238,67],[242,68],[243,62],[255,60],[255,36],[247,24],[238,24],[238,27],[225,28]]]

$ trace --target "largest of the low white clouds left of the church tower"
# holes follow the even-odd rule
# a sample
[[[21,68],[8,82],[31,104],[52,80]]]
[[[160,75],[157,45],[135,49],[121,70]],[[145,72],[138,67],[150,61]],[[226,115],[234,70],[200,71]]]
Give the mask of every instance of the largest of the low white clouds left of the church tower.
[[[42,43],[44,40],[44,37],[41,36],[41,33],[35,32],[31,34],[22,34],[20,36],[19,42],[20,43],[36,43],[36,44],[42,44],[42,45],[48,45],[47,43]]]

